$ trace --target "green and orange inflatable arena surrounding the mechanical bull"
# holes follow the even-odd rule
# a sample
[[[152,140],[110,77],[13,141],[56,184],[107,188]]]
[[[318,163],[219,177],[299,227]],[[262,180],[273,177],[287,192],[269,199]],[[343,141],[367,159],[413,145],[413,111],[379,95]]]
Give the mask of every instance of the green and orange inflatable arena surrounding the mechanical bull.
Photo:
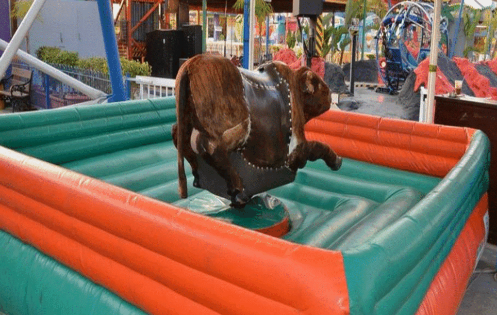
[[[173,98],[0,116],[0,312],[456,313],[488,231],[483,132],[325,113],[307,137],[342,168],[268,192],[278,238],[192,177],[179,200],[174,122]]]

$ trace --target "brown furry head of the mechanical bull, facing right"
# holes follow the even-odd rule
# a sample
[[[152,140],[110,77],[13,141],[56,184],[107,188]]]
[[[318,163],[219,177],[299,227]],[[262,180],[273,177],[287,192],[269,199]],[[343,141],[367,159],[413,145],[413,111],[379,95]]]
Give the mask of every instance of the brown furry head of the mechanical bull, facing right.
[[[330,109],[331,92],[325,81],[307,67],[296,71],[300,90],[300,104],[304,110],[306,123]]]

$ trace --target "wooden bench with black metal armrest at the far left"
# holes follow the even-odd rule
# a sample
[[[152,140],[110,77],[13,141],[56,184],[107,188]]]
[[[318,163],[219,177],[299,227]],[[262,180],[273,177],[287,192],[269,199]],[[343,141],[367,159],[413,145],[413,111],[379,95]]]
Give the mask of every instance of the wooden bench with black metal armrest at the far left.
[[[12,75],[1,80],[3,86],[10,80],[8,90],[0,89],[0,98],[10,101],[12,112],[36,110],[30,100],[32,78],[33,71],[12,66]]]

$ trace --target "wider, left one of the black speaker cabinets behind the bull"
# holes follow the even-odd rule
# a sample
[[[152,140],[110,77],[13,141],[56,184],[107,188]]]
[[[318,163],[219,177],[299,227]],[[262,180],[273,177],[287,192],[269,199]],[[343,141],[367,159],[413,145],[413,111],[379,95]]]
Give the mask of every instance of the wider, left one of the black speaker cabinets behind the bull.
[[[145,61],[152,67],[152,76],[176,77],[179,58],[183,55],[183,41],[181,30],[155,30],[147,33]]]

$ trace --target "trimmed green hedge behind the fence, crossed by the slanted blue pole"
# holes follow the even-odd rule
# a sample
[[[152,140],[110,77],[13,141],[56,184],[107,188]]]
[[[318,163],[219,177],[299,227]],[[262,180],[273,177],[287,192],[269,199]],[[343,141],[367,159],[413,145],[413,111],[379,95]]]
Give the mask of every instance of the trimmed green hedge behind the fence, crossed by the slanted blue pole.
[[[56,47],[40,47],[36,51],[36,56],[39,60],[46,63],[57,63],[75,66],[83,69],[99,71],[105,74],[109,73],[107,60],[103,57],[91,57],[79,59],[78,53],[62,51]],[[131,77],[137,75],[150,75],[152,73],[151,67],[148,63],[139,63],[134,60],[127,60],[121,57],[122,73],[125,75],[129,73]]]

